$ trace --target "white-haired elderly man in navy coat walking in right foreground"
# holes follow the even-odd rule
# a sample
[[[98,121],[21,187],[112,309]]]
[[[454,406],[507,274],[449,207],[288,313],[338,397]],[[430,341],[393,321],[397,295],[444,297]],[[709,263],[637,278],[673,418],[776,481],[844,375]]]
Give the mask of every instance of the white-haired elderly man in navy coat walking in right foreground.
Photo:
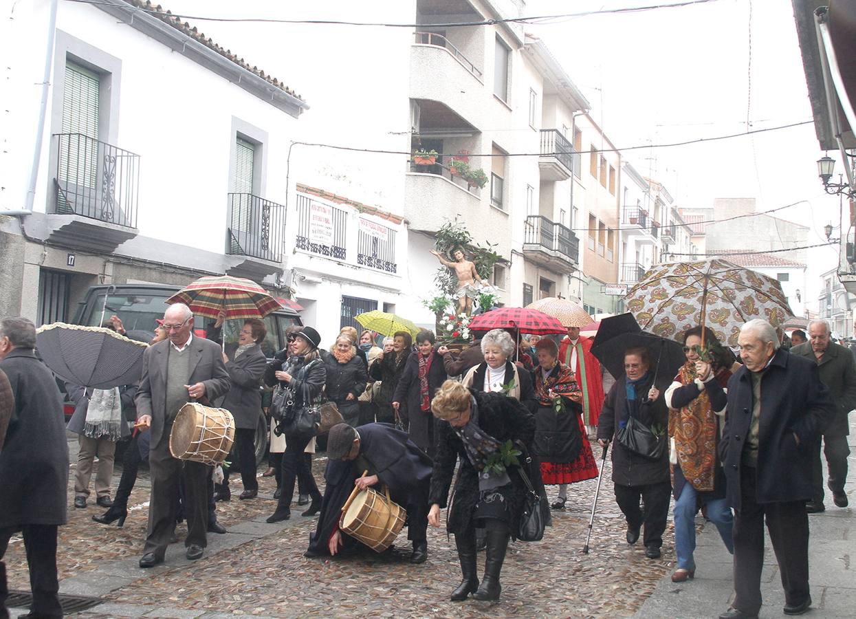
[[[728,503],[734,508],[733,608],[720,619],[758,616],[764,516],[785,590],[786,615],[811,605],[808,516],[811,445],[835,414],[817,364],[779,348],[765,320],[740,329],[741,367],[728,380],[720,443]]]

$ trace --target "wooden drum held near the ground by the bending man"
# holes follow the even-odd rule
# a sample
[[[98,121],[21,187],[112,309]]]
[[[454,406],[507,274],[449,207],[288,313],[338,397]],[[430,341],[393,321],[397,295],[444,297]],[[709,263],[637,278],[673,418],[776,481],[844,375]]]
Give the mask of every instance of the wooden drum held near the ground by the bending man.
[[[342,508],[339,527],[343,533],[359,539],[372,551],[383,552],[401,533],[405,518],[407,510],[392,502],[389,488],[385,497],[372,488],[366,488],[358,491],[356,496],[354,492],[351,493],[348,503]]]

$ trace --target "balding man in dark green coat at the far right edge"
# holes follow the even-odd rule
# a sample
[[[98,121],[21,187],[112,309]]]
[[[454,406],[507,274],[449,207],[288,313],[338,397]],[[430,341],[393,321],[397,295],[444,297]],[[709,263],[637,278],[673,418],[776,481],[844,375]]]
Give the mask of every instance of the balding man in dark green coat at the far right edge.
[[[817,363],[820,379],[832,393],[835,401],[835,417],[823,428],[823,453],[829,466],[827,484],[832,491],[832,500],[838,507],[847,507],[847,435],[850,433],[847,414],[856,408],[856,362],[847,348],[832,342],[829,323],[812,320],[808,325],[809,341],[791,348],[791,354],[799,354]],[[823,505],[823,465],[820,461],[821,437],[811,443],[811,501],[805,503],[809,514],[821,512]]]

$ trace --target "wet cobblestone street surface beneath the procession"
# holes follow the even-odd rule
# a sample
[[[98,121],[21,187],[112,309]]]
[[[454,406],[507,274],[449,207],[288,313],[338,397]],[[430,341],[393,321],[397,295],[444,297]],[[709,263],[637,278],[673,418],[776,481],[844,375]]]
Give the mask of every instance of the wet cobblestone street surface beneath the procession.
[[[324,464],[323,454],[315,459],[318,480]],[[239,480],[233,483],[233,499],[217,503],[218,519],[229,533],[209,533],[205,557],[187,562],[181,544],[185,529],[179,525],[180,541],[170,546],[165,564],[143,570],[137,561],[146,533],[144,478],[134,489],[134,508],[123,528],[93,522],[101,508],[69,508],[58,551],[61,592],[105,600],[77,616],[632,616],[669,573],[674,557],[668,532],[660,560],[648,560],[643,546],[625,543],[608,470],[589,555],[581,550],[594,479],[570,488],[568,509],[554,512],[554,526],[542,542],[510,546],[499,603],[455,604],[449,592],[460,580],[460,568],[454,540],[443,529],[429,531],[429,559],[423,565],[381,561],[371,551],[305,558],[316,519],[300,517],[294,506],[292,520],[266,524],[275,505],[274,482],[260,478],[259,498],[239,501]],[[69,487],[68,496],[73,494]],[[401,535],[400,545],[407,544]],[[28,588],[23,550],[18,541],[7,554],[10,589]]]

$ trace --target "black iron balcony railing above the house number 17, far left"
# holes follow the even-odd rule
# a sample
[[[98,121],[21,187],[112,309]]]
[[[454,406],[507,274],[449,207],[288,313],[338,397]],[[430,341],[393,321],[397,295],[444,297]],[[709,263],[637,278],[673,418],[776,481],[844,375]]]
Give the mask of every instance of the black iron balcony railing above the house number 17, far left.
[[[55,134],[57,213],[137,227],[140,155],[84,134]]]

